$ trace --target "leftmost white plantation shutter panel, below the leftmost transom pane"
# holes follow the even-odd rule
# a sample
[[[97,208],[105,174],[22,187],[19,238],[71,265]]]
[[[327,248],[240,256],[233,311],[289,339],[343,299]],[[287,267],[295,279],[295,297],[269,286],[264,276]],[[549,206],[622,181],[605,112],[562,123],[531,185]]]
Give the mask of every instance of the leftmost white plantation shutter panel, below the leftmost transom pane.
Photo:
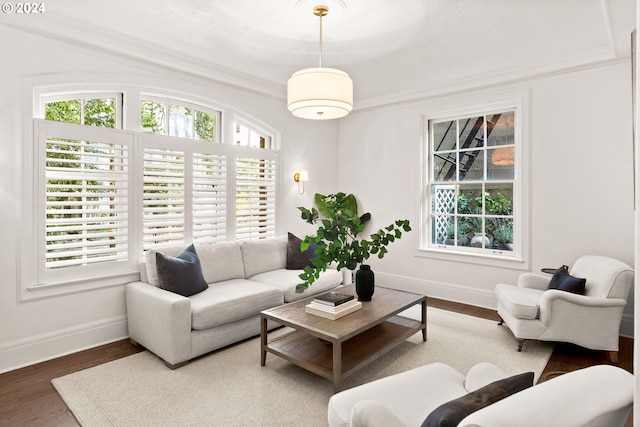
[[[130,270],[131,135],[43,122],[38,144],[44,172],[38,283]]]

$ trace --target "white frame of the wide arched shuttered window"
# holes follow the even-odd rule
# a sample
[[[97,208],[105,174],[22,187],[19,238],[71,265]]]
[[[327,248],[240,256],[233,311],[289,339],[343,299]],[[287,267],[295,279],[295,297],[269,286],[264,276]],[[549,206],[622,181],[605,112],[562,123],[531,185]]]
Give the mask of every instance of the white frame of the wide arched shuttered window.
[[[38,300],[42,298],[50,298],[58,295],[83,292],[87,290],[94,290],[99,288],[105,288],[110,286],[122,286],[126,283],[139,280],[140,273],[138,271],[138,265],[143,259],[143,244],[142,244],[142,167],[143,158],[142,150],[144,141],[152,141],[152,145],[159,143],[163,145],[169,141],[168,145],[183,144],[185,147],[189,147],[190,152],[195,153],[222,153],[227,156],[227,182],[225,189],[225,197],[227,200],[226,206],[226,219],[225,229],[226,234],[223,239],[216,241],[229,241],[235,238],[235,161],[237,157],[255,157],[255,158],[268,158],[276,161],[276,179],[274,197],[276,199],[274,222],[276,226],[274,230],[278,229],[278,197],[281,185],[281,154],[279,149],[279,132],[275,131],[271,127],[265,125],[262,122],[243,119],[243,124],[252,127],[254,130],[260,130],[266,133],[266,135],[272,141],[271,149],[254,149],[250,147],[234,147],[232,141],[232,132],[229,132],[232,120],[235,116],[235,111],[229,107],[226,109],[214,109],[211,107],[210,102],[201,102],[197,97],[189,97],[188,94],[184,96],[174,96],[175,92],[167,92],[170,95],[159,96],[159,91],[153,91],[153,95],[150,95],[150,91],[142,86],[82,86],[82,85],[69,85],[62,86],[31,86],[24,88],[26,91],[30,91],[33,99],[33,104],[30,108],[25,108],[25,119],[30,123],[30,126],[25,126],[24,136],[25,144],[22,148],[22,164],[23,170],[20,174],[20,181],[22,182],[22,204],[21,204],[21,217],[24,233],[16,242],[17,246],[17,258],[18,258],[18,301],[26,302],[31,300]],[[48,102],[56,102],[63,100],[73,100],[79,98],[113,98],[116,96],[116,125],[125,127],[126,129],[112,129],[106,127],[97,127],[89,125],[71,124],[65,122],[49,121],[44,119],[44,106]],[[182,94],[181,94],[182,95]],[[154,135],[144,132],[141,127],[140,117],[140,101],[141,100],[164,101],[181,106],[187,106],[199,111],[216,112],[216,135],[217,140],[215,142],[200,139],[186,139],[180,137],[170,137],[165,135]],[[190,99],[191,101],[185,101]],[[25,106],[26,107],[26,106]],[[137,114],[132,114],[131,110],[135,110]],[[229,113],[230,112],[230,113]],[[254,124],[255,123],[255,124]],[[130,150],[130,167],[129,167],[129,232],[130,239],[128,252],[130,254],[127,260],[127,267],[116,270],[102,271],[102,274],[88,275],[85,277],[79,277],[76,275],[68,275],[65,277],[61,274],[59,278],[55,280],[43,280],[42,269],[44,269],[43,258],[40,256],[42,253],[41,243],[42,236],[45,234],[45,227],[41,225],[44,222],[43,209],[44,209],[44,193],[45,187],[45,170],[41,167],[44,163],[44,157],[42,156],[42,147],[39,143],[41,127],[44,126],[72,126],[82,128],[90,132],[97,133],[112,133],[122,134],[126,138],[131,138],[131,150]],[[81,131],[82,133],[82,131]],[[225,135],[228,135],[226,137]],[[54,137],[51,136],[50,137]],[[90,140],[90,139],[87,139]],[[107,141],[108,142],[108,141]],[[257,156],[257,157],[256,157]],[[193,180],[186,180],[185,186],[194,186]],[[194,187],[195,188],[195,187]],[[136,193],[135,195],[133,195]],[[138,194],[139,193],[139,194]],[[205,195],[206,197],[206,195]],[[133,199],[133,200],[132,200]],[[208,200],[208,199],[207,199]],[[192,199],[185,197],[185,204],[191,203]],[[185,209],[191,210],[189,215],[192,215],[195,206],[189,205]],[[205,208],[206,209],[206,208]],[[208,218],[205,219],[208,221]],[[209,224],[205,224],[205,227]],[[139,230],[139,231],[131,231]],[[275,235],[275,231],[273,233]],[[133,237],[132,237],[133,236]],[[193,236],[188,236],[189,240],[185,241],[185,246],[191,243]],[[215,239],[214,239],[215,240]],[[187,243],[188,242],[188,243]],[[131,255],[133,254],[133,255]],[[100,269],[99,269],[100,270]]]

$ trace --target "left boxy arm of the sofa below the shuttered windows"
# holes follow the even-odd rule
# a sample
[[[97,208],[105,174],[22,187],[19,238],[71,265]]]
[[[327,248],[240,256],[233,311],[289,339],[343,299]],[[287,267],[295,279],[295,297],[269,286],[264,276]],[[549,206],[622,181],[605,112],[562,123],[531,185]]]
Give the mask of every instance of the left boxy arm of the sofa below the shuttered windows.
[[[126,286],[129,336],[174,367],[191,359],[191,301],[144,282]]]

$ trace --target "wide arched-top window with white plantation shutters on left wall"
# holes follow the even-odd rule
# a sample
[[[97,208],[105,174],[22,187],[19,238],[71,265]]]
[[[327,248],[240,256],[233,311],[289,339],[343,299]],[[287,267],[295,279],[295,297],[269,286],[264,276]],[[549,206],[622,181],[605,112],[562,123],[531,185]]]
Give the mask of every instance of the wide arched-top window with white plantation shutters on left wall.
[[[279,153],[268,132],[236,121],[225,143],[219,111],[131,99],[141,101],[42,98],[30,287],[128,277],[143,250],[163,245],[275,235]],[[131,130],[122,129],[127,108],[140,111]]]

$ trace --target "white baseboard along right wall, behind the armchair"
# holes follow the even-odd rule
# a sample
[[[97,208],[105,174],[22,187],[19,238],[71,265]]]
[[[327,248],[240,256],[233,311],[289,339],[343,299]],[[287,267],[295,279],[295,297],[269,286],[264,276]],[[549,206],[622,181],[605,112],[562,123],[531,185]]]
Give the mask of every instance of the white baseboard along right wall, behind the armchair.
[[[474,305],[477,307],[496,309],[496,297],[493,291],[479,290],[468,286],[420,280],[376,271],[376,284],[382,287],[400,289],[407,292],[425,294],[433,298]],[[620,335],[633,338],[634,317],[623,314],[620,324]]]

